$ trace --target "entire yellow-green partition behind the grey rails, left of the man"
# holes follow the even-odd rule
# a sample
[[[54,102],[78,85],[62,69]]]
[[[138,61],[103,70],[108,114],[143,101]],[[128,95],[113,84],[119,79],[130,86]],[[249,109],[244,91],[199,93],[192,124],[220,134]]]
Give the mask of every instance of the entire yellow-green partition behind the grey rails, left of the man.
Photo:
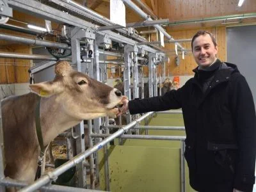
[[[148,125],[184,126],[184,122],[182,114],[157,114],[150,118]],[[185,131],[164,130],[148,130],[148,134],[186,135]],[[100,150],[100,189],[106,190],[102,157]],[[186,192],[193,192],[189,186],[187,164],[185,173]],[[113,192],[180,191],[180,141],[125,140],[120,146],[116,139],[115,146],[109,148],[109,178]]]

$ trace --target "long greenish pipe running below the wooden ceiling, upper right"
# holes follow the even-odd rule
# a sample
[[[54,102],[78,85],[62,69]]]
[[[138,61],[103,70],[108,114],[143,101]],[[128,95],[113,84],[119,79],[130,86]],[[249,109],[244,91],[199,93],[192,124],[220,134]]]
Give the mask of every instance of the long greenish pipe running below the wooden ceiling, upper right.
[[[191,23],[198,23],[198,22],[212,22],[218,20],[232,20],[232,19],[248,19],[256,17],[256,13],[244,13],[239,15],[227,15],[227,16],[220,16],[220,17],[207,17],[202,19],[191,19],[191,20],[179,20],[169,22],[168,26],[177,26],[182,24],[191,24]]]

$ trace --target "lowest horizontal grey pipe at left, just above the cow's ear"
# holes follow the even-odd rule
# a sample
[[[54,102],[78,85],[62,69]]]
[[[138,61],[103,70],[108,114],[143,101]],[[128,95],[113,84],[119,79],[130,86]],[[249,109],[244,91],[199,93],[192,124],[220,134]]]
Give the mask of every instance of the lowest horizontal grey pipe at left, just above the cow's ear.
[[[14,52],[0,52],[0,58],[17,58],[22,60],[48,60],[48,61],[57,61],[56,58],[51,56],[46,56],[42,54],[19,54]]]

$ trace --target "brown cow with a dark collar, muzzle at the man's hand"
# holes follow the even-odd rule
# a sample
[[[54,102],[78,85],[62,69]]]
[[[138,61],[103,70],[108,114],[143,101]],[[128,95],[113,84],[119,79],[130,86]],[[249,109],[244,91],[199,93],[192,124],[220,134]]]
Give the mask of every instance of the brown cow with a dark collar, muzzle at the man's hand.
[[[4,175],[31,183],[35,179],[40,145],[35,113],[40,100],[44,146],[82,120],[115,116],[122,93],[72,69],[67,61],[55,65],[53,81],[30,84],[35,93],[2,100]]]

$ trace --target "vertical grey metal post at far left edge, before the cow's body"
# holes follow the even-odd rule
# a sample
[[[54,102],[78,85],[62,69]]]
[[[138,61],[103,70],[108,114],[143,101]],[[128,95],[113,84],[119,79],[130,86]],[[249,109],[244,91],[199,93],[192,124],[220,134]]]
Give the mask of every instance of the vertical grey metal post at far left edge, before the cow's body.
[[[2,108],[0,100],[0,179],[4,179],[4,140],[3,140],[3,124],[2,124]],[[5,187],[0,186],[0,191],[5,192]]]

